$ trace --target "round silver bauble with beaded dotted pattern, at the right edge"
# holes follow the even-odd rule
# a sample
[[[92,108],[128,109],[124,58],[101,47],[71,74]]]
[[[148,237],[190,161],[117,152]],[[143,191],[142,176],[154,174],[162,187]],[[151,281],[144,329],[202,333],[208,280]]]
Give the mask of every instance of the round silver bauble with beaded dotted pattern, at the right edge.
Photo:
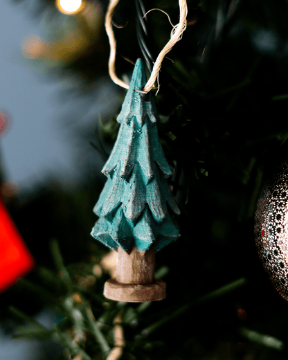
[[[288,300],[288,159],[261,192],[254,232],[264,269]]]

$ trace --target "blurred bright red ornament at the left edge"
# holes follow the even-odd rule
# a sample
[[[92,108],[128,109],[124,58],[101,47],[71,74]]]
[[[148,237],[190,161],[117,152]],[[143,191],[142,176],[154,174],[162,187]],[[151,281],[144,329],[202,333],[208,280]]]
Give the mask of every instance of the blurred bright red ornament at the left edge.
[[[0,199],[0,291],[14,285],[34,266],[35,260]]]

